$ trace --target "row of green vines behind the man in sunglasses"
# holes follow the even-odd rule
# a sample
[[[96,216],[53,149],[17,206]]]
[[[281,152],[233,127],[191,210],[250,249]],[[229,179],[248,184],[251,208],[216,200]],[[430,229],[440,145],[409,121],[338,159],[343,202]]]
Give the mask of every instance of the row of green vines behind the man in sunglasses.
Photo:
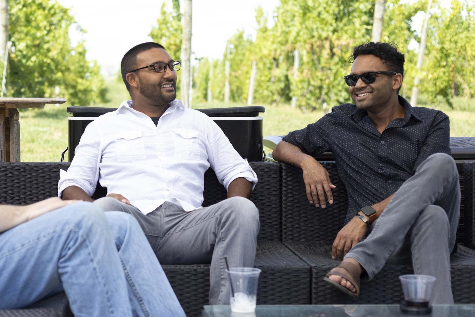
[[[429,104],[451,104],[453,96],[475,96],[475,7],[473,1],[452,0],[445,10],[435,0],[429,22],[428,44],[423,68],[416,69],[420,42],[412,20],[427,8],[427,0],[416,2],[387,0],[382,42],[395,42],[405,54],[406,64],[401,95],[409,98],[416,74],[419,92]],[[274,25],[268,27],[266,14],[256,10],[256,39],[238,31],[229,39],[230,100],[246,102],[252,61],[257,61],[255,103],[278,104],[297,97],[302,109],[319,109],[348,102],[348,86],[343,81],[351,69],[352,48],[371,39],[374,1],[367,0],[280,0]],[[419,31],[419,30],[418,30]],[[300,52],[298,76],[294,78],[294,51]],[[223,61],[215,61],[223,66]],[[206,100],[209,63],[199,60],[194,100]],[[453,70],[452,69],[453,65]],[[212,83],[213,99],[224,96],[223,73],[216,67]],[[218,79],[218,77],[220,79]],[[218,83],[217,83],[218,82]],[[453,87],[453,88],[452,88]],[[224,98],[224,97],[223,97]],[[222,100],[222,99],[218,99]]]

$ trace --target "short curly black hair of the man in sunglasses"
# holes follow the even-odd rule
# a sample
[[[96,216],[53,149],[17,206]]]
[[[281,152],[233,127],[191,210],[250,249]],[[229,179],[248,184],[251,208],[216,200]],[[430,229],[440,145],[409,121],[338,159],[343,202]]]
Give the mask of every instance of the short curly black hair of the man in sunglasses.
[[[353,48],[353,54],[350,56],[350,63],[352,63],[359,55],[374,55],[380,58],[384,64],[388,65],[390,70],[401,74],[404,78],[404,54],[398,51],[396,43],[367,42],[358,45]]]

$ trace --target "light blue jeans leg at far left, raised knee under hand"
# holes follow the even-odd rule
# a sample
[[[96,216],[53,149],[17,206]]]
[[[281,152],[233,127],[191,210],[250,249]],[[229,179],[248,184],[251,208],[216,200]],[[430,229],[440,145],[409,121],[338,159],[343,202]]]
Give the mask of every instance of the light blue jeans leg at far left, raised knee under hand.
[[[0,308],[63,290],[76,317],[132,316],[127,282],[104,212],[79,202],[0,234]]]

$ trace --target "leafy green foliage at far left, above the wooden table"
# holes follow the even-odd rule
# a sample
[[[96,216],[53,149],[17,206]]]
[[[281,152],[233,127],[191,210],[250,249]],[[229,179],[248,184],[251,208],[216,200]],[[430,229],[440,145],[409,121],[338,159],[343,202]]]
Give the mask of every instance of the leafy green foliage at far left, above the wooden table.
[[[12,52],[7,96],[54,97],[58,87],[58,96],[72,105],[106,101],[99,66],[86,60],[83,42],[71,46],[68,31],[76,22],[68,9],[52,0],[9,0],[8,5]]]

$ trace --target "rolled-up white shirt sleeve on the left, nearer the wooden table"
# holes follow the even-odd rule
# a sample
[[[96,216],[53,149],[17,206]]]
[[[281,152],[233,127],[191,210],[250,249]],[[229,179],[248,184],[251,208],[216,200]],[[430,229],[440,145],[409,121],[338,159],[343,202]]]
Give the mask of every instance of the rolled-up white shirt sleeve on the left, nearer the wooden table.
[[[69,186],[77,186],[89,196],[95,192],[101,160],[101,134],[95,122],[87,125],[67,171],[59,171],[58,197]]]

